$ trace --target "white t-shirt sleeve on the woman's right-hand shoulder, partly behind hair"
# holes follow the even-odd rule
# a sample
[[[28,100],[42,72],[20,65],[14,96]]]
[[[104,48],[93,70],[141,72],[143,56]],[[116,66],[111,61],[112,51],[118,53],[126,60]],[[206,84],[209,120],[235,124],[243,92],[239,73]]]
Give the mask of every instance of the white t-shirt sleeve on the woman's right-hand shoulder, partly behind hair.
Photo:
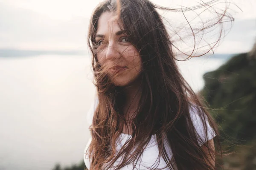
[[[216,136],[216,133],[212,129],[212,127],[209,125],[208,118],[205,114],[204,114],[204,116],[199,116],[197,109],[195,107],[192,107],[190,109],[190,117],[191,117],[192,123],[195,127],[195,131],[198,136],[198,143],[200,145],[203,145],[205,142],[213,139]],[[206,123],[206,130],[205,130],[205,126],[204,126],[204,120]],[[206,131],[207,131],[207,133],[206,133]]]

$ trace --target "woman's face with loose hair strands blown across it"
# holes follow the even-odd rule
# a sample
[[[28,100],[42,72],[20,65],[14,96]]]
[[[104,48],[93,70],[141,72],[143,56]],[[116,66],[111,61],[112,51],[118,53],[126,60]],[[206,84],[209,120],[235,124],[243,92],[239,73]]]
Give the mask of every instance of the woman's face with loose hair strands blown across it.
[[[141,57],[123,32],[112,12],[104,12],[96,31],[97,58],[113,84],[126,86],[134,82],[142,69]]]

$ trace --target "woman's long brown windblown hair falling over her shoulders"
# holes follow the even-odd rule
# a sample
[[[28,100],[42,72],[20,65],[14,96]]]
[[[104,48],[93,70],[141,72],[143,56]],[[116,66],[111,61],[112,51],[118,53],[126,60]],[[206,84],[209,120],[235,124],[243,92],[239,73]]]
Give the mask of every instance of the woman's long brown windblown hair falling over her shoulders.
[[[100,170],[108,164],[106,167],[108,169],[120,157],[123,158],[122,162],[115,167],[115,170],[131,162],[135,162],[135,168],[138,157],[142,155],[151,135],[156,135],[159,156],[163,157],[170,169],[175,167],[178,170],[214,169],[214,165],[209,165],[209,159],[212,158],[207,157],[200,143],[205,143],[209,153],[217,155],[218,150],[221,150],[218,129],[197,95],[180,74],[172,49],[175,45],[171,41],[162,17],[156,11],[157,8],[174,9],[157,6],[149,0],[118,2],[107,0],[99,4],[90,20],[88,44],[93,54],[92,66],[99,99],[93,124],[90,126],[92,135],[89,147],[90,168]],[[211,3],[213,1],[207,5]],[[190,9],[196,8],[198,6]],[[100,71],[96,52],[98,20],[105,11],[116,12],[122,22],[122,29],[126,30],[129,40],[139,51],[143,62],[141,97],[137,114],[132,119],[132,137],[118,153],[116,153],[116,139],[122,133],[123,125],[127,126],[125,113],[122,112],[125,103],[124,88],[113,85],[108,75]],[[227,16],[225,12],[221,14],[218,23]],[[212,26],[215,24],[213,23]],[[195,36],[194,32],[193,36]],[[216,151],[207,143],[207,135],[206,139],[198,136],[189,113],[192,107],[203,122],[204,133],[207,134],[207,121],[215,131]],[[168,156],[170,150],[164,147],[166,141],[171,147],[172,158]],[[151,168],[155,169],[155,167]]]

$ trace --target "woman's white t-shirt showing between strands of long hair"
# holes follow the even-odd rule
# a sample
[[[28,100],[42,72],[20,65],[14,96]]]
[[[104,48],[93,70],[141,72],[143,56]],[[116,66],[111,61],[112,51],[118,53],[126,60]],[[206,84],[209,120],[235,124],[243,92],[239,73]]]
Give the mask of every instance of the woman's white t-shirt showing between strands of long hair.
[[[91,106],[90,110],[87,113],[87,123],[89,123],[89,125],[92,124],[93,113],[94,113],[97,105],[98,105],[98,100],[96,100],[93,103],[93,105]],[[205,139],[204,142],[207,142],[206,134],[204,133],[203,122],[201,121],[200,116],[193,109],[191,109],[191,111],[190,111],[190,116],[191,116],[193,125],[194,125],[195,130],[197,131],[198,135],[202,139]],[[210,127],[208,121],[207,121],[207,136],[208,136],[208,140],[215,137],[215,132],[212,129],[212,127]],[[119,140],[117,140],[119,142],[117,142],[117,144],[116,144],[117,145],[116,150],[117,151],[120,150],[120,148],[130,138],[131,138],[131,135],[121,133],[121,135],[119,136]],[[90,159],[89,159],[88,155],[86,154],[86,151],[90,145],[91,140],[92,140],[92,138],[89,139],[89,141],[87,142],[87,145],[84,149],[84,163],[89,170],[90,170]],[[202,145],[202,144],[204,144],[204,142],[199,142],[199,143]],[[166,147],[166,150],[169,150],[168,156],[169,156],[169,159],[171,159],[172,158],[171,148],[169,147],[169,145],[167,143],[165,143],[164,145]],[[160,157],[160,159],[159,159],[158,156],[159,156],[159,151],[158,151],[157,142],[156,142],[156,135],[152,135],[150,142],[146,146],[145,150],[143,151],[143,154],[140,156],[139,161],[136,164],[137,170],[147,170],[147,169],[155,169],[155,168],[160,169],[160,168],[166,167],[166,162],[164,161],[164,159],[162,157]],[[120,157],[115,162],[114,166],[119,164],[121,161],[122,161],[122,158]],[[134,164],[131,163],[125,167],[122,167],[120,170],[133,170],[133,167],[134,167]],[[167,167],[164,170],[169,170],[169,168]]]

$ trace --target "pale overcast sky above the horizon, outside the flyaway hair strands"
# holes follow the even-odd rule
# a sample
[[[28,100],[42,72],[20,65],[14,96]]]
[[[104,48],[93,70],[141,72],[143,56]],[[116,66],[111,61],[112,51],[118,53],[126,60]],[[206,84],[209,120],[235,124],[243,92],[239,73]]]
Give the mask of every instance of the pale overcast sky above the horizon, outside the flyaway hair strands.
[[[87,50],[90,14],[99,0],[0,0],[0,48]],[[163,6],[192,6],[193,0],[153,0]],[[217,53],[249,51],[256,37],[256,1],[233,0],[235,22]],[[236,12],[235,12],[236,11]]]

